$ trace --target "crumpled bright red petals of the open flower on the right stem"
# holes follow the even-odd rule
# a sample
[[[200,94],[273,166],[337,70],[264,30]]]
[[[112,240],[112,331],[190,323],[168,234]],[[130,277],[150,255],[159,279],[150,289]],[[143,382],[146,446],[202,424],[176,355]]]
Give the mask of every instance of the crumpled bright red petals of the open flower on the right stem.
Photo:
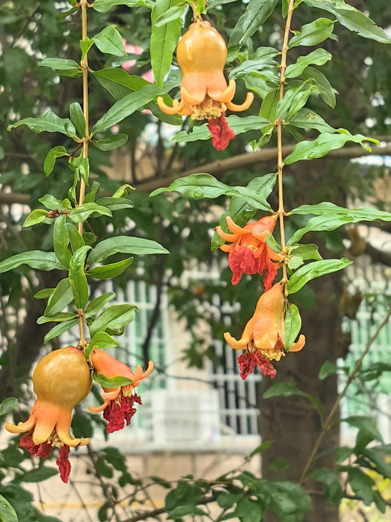
[[[259,254],[260,248],[262,248],[261,255],[254,257],[255,252]],[[253,275],[258,272],[262,276],[263,271],[266,270],[263,278],[265,291],[272,288],[273,281],[277,275],[277,267],[268,257],[264,244],[260,245],[258,250],[255,251],[243,245],[240,245],[238,248],[232,248],[228,254],[228,266],[232,271],[232,284],[237,284],[242,274]]]

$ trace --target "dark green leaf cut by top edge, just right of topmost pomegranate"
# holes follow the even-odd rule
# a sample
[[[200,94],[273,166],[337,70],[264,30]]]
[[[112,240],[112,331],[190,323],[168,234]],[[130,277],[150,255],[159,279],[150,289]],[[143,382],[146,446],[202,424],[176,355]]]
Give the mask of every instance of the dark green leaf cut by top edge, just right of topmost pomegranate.
[[[238,51],[273,13],[278,0],[250,0],[239,18],[228,42],[228,54]]]

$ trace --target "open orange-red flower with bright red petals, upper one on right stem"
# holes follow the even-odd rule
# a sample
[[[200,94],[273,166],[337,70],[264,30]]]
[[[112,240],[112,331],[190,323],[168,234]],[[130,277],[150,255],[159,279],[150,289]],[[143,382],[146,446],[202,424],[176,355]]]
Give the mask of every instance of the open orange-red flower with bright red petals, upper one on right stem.
[[[231,242],[230,245],[222,245],[220,248],[228,252],[228,265],[232,270],[232,284],[237,284],[242,274],[258,274],[261,276],[266,270],[263,278],[265,290],[272,288],[272,283],[277,275],[278,263],[272,263],[272,259],[280,261],[283,256],[269,248],[265,241],[266,236],[273,232],[277,221],[277,215],[267,216],[254,223],[249,223],[241,228],[227,216],[227,225],[231,234],[223,232],[221,227],[216,227],[218,235],[224,241]]]

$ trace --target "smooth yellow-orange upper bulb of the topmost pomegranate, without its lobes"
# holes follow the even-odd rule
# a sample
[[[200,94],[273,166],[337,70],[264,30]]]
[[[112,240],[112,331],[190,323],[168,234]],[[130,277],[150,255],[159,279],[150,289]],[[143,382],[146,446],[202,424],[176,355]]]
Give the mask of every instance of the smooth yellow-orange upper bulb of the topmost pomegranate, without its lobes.
[[[209,22],[192,23],[178,43],[177,61],[184,74],[222,71],[226,60],[224,38]]]

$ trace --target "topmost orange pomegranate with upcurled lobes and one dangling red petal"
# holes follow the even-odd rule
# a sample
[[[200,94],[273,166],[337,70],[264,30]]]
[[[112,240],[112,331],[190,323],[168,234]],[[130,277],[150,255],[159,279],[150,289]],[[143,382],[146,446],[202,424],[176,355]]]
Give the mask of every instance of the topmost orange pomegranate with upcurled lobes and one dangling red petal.
[[[193,120],[208,120],[207,127],[212,134],[212,145],[217,150],[227,148],[235,137],[234,131],[225,119],[225,111],[245,111],[254,99],[247,93],[244,103],[232,102],[235,95],[235,80],[224,77],[227,60],[227,46],[209,22],[197,20],[183,35],[177,47],[178,65],[182,70],[180,101],[174,100],[169,107],[162,97],[157,104],[167,114],[191,116]]]

